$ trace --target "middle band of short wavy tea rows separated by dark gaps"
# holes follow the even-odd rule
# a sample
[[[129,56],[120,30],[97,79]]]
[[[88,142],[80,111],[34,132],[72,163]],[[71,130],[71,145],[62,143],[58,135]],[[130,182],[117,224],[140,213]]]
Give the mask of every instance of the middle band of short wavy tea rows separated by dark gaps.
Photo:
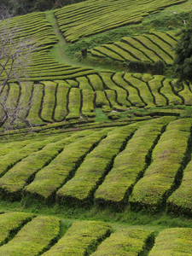
[[[180,85],[178,89],[176,79],[160,75],[96,73],[79,77],[76,73],[73,79],[55,79],[41,84],[12,83],[4,88],[1,96],[8,95],[6,104],[12,110],[21,104],[21,116],[27,117],[32,125],[44,125],[81,116],[94,117],[95,108],[109,113],[129,107],[191,106],[190,84]],[[3,115],[2,107],[0,115]]]

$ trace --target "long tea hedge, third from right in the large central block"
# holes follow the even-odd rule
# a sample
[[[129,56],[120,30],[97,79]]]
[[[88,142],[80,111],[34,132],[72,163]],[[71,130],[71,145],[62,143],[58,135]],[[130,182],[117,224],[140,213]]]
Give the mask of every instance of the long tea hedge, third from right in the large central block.
[[[150,163],[154,145],[158,143],[166,125],[173,119],[175,118],[153,119],[141,124],[125,150],[115,158],[112,170],[96,190],[96,203],[111,204],[115,207],[128,203],[133,186],[143,176]]]

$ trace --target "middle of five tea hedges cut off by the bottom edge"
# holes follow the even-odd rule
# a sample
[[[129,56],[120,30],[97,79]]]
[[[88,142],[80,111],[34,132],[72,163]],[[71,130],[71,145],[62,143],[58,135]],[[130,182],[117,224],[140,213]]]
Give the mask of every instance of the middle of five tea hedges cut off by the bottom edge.
[[[84,256],[96,250],[96,247],[111,233],[111,226],[101,221],[75,221],[65,236],[44,253],[44,256]]]

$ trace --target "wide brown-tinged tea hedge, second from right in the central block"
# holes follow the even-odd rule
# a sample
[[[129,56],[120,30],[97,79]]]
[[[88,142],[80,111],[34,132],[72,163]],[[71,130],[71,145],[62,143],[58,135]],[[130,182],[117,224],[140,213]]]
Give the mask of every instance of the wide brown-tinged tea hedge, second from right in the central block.
[[[133,188],[132,208],[158,211],[179,183],[189,150],[191,119],[172,121],[154,148],[152,163]]]

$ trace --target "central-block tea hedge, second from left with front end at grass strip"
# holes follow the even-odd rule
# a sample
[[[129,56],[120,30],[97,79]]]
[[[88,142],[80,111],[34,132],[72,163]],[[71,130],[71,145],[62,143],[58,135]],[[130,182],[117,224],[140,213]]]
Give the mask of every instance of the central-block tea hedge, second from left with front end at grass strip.
[[[49,199],[55,201],[56,190],[73,177],[86,154],[108,134],[108,129],[95,132],[93,135],[91,133],[92,131],[82,131],[77,136],[68,138],[69,144],[51,161],[49,166],[45,166],[37,173],[34,181],[24,189],[25,194],[34,195],[45,201]]]

